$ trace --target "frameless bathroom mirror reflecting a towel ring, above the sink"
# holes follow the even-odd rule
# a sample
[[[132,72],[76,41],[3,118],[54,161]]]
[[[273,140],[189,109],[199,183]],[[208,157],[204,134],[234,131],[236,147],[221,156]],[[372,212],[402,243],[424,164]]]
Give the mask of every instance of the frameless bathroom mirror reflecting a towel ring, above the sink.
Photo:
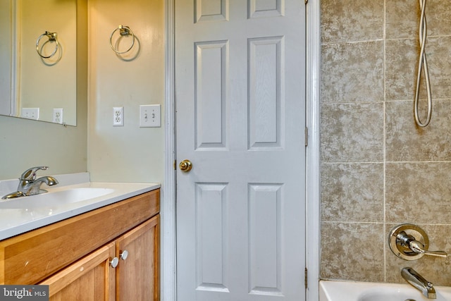
[[[77,1],[0,0],[1,115],[76,125]]]

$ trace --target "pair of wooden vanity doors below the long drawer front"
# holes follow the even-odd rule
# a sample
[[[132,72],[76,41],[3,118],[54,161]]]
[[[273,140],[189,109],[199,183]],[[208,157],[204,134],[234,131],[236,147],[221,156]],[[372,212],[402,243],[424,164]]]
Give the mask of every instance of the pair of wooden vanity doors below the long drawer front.
[[[159,218],[39,283],[49,285],[49,300],[159,300]],[[122,259],[124,251],[127,257]],[[114,257],[116,268],[110,263]]]

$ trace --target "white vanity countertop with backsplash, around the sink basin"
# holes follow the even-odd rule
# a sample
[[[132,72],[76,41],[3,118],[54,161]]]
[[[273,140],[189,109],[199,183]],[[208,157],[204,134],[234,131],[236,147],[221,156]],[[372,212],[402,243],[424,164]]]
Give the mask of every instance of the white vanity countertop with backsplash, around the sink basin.
[[[100,197],[86,199],[81,202],[61,204],[52,207],[30,209],[0,209],[0,240],[25,233],[36,228],[47,226],[63,219],[85,213],[115,202],[119,202],[135,195],[141,195],[160,188],[159,183],[97,183],[89,182],[89,173],[75,173],[70,175],[56,175],[58,185],[42,188],[49,192],[58,192],[71,188],[107,188],[112,192]],[[0,197],[17,190],[18,180],[0,181]],[[28,197],[20,197],[27,202]],[[0,199],[0,202],[8,200]]]

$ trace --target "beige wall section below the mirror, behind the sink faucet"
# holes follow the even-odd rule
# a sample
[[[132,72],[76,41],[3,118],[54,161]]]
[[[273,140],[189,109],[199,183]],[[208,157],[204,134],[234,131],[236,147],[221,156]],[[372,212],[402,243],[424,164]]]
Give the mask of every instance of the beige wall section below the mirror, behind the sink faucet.
[[[32,166],[49,166],[40,174],[87,170],[85,117],[77,127],[0,116],[0,180],[19,178]]]

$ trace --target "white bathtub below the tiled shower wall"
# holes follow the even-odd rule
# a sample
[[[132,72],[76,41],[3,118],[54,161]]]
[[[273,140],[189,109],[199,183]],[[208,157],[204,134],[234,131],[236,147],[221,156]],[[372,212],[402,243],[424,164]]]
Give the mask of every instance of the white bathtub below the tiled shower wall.
[[[451,287],[435,287],[428,299],[409,284],[320,281],[319,301],[451,301]]]

